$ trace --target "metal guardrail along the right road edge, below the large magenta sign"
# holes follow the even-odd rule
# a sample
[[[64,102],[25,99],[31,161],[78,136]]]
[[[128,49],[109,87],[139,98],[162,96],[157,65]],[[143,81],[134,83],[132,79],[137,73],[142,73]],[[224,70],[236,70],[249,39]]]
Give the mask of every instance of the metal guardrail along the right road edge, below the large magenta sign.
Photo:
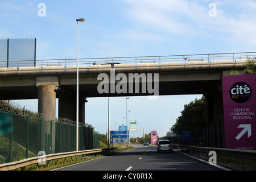
[[[215,151],[218,155],[232,156],[242,159],[250,159],[254,161],[254,170],[256,171],[256,151],[255,150],[236,150],[229,148],[214,148],[214,147],[195,147],[195,146],[183,146],[179,144],[172,144],[172,146],[179,147],[181,149],[187,148],[189,150],[199,151],[199,152],[210,152]]]

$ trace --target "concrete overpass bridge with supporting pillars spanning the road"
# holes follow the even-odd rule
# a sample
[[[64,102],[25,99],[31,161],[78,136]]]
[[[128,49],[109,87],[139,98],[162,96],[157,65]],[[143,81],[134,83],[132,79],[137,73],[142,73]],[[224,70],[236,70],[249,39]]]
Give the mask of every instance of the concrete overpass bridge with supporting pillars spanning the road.
[[[222,117],[221,77],[230,70],[242,71],[246,57],[255,57],[256,52],[220,53],[201,55],[144,56],[144,57],[108,57],[79,60],[79,122],[84,123],[85,98],[147,96],[142,92],[99,93],[98,79],[101,73],[113,75],[115,86],[120,82],[116,76],[129,77],[129,74],[152,74],[158,76],[159,96],[177,94],[204,94],[207,122]],[[23,64],[26,63],[26,64]],[[36,63],[36,64],[34,64]],[[76,59],[9,61],[6,68],[0,64],[0,100],[22,100],[38,98],[38,112],[55,119],[56,98],[59,98],[59,117],[76,121]],[[129,80],[127,80],[129,82]],[[154,82],[154,80],[153,80]],[[153,83],[156,86],[156,83]],[[133,86],[127,83],[127,90]]]

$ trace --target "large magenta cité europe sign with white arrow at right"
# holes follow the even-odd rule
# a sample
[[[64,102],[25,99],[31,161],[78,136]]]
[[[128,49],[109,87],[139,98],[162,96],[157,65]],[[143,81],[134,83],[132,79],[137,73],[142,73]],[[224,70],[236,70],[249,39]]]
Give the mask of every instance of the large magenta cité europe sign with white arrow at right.
[[[256,150],[256,74],[223,76],[226,148]]]

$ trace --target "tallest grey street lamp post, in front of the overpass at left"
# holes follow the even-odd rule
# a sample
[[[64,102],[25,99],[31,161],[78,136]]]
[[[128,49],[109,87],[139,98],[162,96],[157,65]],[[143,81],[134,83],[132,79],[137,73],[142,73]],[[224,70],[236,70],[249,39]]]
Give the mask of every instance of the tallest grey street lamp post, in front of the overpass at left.
[[[84,18],[76,19],[76,151],[79,151],[79,44],[78,22],[84,22]]]

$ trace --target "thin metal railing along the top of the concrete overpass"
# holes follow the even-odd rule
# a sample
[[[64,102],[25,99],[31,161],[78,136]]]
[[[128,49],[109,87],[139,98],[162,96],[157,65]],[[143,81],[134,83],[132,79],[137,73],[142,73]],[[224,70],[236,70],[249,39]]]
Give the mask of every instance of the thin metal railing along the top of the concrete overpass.
[[[196,55],[171,55],[171,56],[137,56],[137,57],[102,57],[79,59],[79,65],[94,64],[135,64],[138,63],[168,63],[187,61],[214,61],[214,60],[236,60],[247,59],[247,56],[255,59],[256,52],[237,52],[237,53],[209,53]],[[6,66],[8,65],[8,66]],[[51,60],[9,60],[0,61],[0,68],[6,67],[45,67],[59,66],[67,67],[76,65],[76,59],[51,59]]]

